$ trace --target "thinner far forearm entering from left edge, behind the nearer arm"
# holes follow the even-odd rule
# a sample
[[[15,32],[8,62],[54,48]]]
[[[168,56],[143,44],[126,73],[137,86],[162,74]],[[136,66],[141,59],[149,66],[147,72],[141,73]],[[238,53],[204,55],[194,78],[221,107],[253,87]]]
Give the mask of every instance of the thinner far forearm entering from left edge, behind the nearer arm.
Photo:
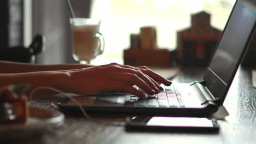
[[[0,61],[0,74],[10,73],[30,73],[35,71],[53,71],[53,70],[68,70],[68,69],[80,69],[88,68],[93,65],[85,64],[31,64],[31,63],[18,63],[18,62],[7,62]]]

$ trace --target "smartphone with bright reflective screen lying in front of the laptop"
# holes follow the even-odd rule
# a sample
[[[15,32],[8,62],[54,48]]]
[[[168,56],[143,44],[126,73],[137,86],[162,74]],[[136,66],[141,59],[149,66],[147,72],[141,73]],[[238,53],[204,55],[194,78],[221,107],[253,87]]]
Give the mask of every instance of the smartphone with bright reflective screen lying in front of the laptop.
[[[219,130],[216,119],[205,117],[127,117],[126,130],[164,130],[164,131],[191,131],[213,132]]]

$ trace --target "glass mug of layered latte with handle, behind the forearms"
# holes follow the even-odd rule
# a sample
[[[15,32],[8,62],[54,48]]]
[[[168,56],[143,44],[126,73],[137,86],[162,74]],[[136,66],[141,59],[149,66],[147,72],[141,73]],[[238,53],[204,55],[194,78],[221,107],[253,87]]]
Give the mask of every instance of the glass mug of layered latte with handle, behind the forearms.
[[[104,51],[104,37],[99,32],[100,20],[71,18],[73,58],[81,64],[101,55]]]

